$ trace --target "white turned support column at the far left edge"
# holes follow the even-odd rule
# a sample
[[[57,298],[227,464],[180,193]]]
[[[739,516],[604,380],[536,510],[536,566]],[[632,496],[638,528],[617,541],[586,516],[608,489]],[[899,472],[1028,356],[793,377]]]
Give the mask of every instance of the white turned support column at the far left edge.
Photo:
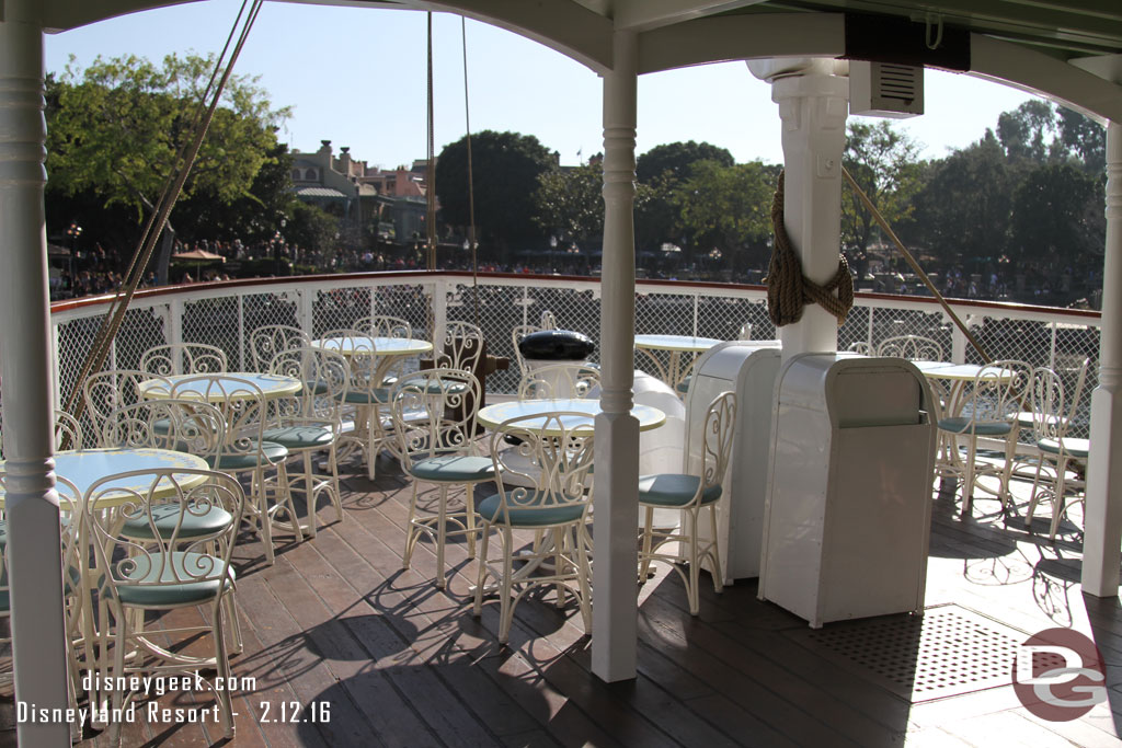
[[[35,0],[0,21],[0,378],[7,458],[8,579],[16,702],[65,709],[58,496],[50,396],[43,29]],[[22,722],[22,746],[68,746],[70,724]]]

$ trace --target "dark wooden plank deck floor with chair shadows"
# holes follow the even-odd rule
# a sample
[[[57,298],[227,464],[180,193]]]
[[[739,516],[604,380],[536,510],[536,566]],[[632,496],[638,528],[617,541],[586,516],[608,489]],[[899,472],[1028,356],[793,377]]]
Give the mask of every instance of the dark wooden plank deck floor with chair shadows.
[[[517,608],[509,647],[496,641],[497,606],[471,616],[473,565],[462,545],[447,592],[432,583],[422,544],[401,569],[408,484],[379,463],[375,482],[349,475],[344,521],[320,511],[314,541],[291,544],[265,566],[252,541],[236,552],[246,650],[232,661],[256,687],[236,700],[237,746],[1103,746],[1122,729],[1122,608],[1079,591],[1077,535],[1047,541],[1041,520],[1024,530],[994,501],[963,520],[951,498],[935,500],[927,604],[981,613],[1018,637],[1074,627],[1109,663],[1110,703],[1072,722],[1047,722],[1000,687],[910,703],[883,678],[808,636],[807,625],[756,599],[746,581],[716,594],[702,584],[691,618],[678,575],[661,570],[640,607],[638,677],[605,684],[589,672],[589,639],[570,603],[552,593]],[[986,512],[993,512],[987,515]],[[703,576],[703,581],[708,579]],[[169,615],[197,619],[197,612]],[[908,617],[891,617],[893,621]],[[976,617],[975,617],[976,619]],[[858,639],[885,619],[828,625]],[[1018,641],[1021,638],[1018,639]],[[201,644],[201,643],[196,643]],[[194,645],[193,645],[194,646]],[[920,644],[875,653],[907,669]],[[875,648],[875,647],[874,647]],[[960,647],[950,661],[986,653]],[[1011,662],[1012,653],[1004,653]],[[882,663],[884,664],[884,663]],[[167,694],[166,707],[204,708],[205,693]],[[330,710],[329,719],[321,707]],[[141,705],[142,708],[142,705]],[[15,744],[4,704],[0,742]],[[282,721],[282,718],[284,721]],[[295,721],[289,721],[295,720]],[[220,744],[212,721],[138,719],[126,746]],[[86,730],[83,745],[107,742]]]

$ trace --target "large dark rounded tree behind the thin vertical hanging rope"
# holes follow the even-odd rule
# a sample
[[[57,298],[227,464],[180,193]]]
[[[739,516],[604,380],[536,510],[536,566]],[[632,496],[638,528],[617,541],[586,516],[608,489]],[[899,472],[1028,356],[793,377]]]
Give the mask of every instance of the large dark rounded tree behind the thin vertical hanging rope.
[[[509,243],[540,236],[531,220],[537,177],[555,161],[537,138],[484,130],[471,136],[478,236],[503,253]],[[436,160],[436,197],[445,223],[470,223],[467,137],[444,146]]]

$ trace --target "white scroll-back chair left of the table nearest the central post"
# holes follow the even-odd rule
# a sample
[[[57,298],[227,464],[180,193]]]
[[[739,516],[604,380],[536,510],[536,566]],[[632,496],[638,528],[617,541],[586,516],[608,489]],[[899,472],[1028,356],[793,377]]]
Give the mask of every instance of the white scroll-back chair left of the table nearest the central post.
[[[394,387],[394,431],[402,468],[413,478],[402,566],[408,569],[417,541],[427,535],[436,545],[438,588],[448,583],[444,546],[449,534],[466,536],[468,555],[475,555],[475,487],[495,477],[491,459],[479,455],[476,449],[472,430],[478,403],[479,380],[459,369],[417,371]],[[417,486],[422,481],[438,488],[433,514],[419,512]],[[453,486],[465,487],[465,499],[461,509],[450,511],[448,493]],[[453,529],[448,529],[449,524]]]

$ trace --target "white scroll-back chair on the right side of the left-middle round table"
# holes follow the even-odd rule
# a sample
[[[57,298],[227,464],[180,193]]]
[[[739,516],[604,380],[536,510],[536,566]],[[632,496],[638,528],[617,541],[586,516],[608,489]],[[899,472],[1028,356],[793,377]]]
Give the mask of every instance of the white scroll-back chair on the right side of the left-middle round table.
[[[272,403],[273,422],[261,434],[266,442],[280,444],[302,461],[302,470],[288,470],[289,490],[303,479],[307,502],[307,530],[315,537],[316,497],[327,493],[342,521],[343,504],[339,490],[339,465],[335,446],[342,435],[342,404],[347,399],[350,368],[347,359],[335,351],[318,348],[291,348],[278,352],[269,362],[270,373],[295,377],[314,382],[296,395]],[[329,475],[318,475],[313,456],[327,451]]]

